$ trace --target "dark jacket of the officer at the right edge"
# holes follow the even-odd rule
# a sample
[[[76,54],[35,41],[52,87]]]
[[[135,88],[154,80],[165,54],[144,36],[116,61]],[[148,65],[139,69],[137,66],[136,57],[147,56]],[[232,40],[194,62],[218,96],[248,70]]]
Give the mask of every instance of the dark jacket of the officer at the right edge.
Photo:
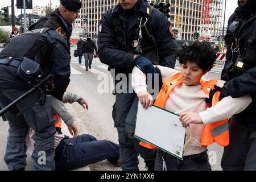
[[[226,63],[222,71],[221,79],[228,81],[226,86],[230,96],[236,98],[249,94],[253,98],[253,102],[250,106],[236,116],[238,119],[241,119],[242,122],[246,122],[251,128],[256,129],[256,10],[245,14],[241,14],[236,10],[235,13],[230,16],[228,25],[239,16],[242,18],[242,22],[239,27],[240,29],[238,29],[240,31],[236,32],[235,38],[237,38],[237,40],[239,39],[240,54],[243,55],[245,69],[244,71],[240,71],[234,68],[238,52],[232,53],[231,47],[227,46]],[[252,27],[253,24],[254,27]],[[248,38],[252,40],[252,43],[248,44],[249,46],[246,48]],[[233,42],[233,50],[234,48],[236,48],[235,41]],[[247,49],[246,52],[245,48]],[[251,57],[250,61],[248,61],[249,57]]]

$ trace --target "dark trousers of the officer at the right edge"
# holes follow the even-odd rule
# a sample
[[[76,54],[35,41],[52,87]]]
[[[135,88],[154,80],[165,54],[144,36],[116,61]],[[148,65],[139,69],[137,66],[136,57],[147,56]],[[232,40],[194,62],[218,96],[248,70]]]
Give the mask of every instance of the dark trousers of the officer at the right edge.
[[[224,171],[256,170],[256,130],[232,117],[229,121],[229,145],[221,159]]]

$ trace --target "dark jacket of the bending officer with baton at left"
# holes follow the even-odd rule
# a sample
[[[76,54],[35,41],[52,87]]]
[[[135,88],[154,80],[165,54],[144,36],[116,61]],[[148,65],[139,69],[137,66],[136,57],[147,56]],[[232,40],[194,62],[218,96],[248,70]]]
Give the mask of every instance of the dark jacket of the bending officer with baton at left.
[[[27,57],[38,63],[41,62],[40,67],[43,71],[55,75],[53,78],[55,88],[50,94],[62,100],[63,94],[69,85],[71,74],[68,45],[67,41],[56,31],[49,28],[44,28],[43,30],[45,29],[48,30],[42,34],[41,39],[35,43],[36,45],[28,43],[29,40],[34,40],[34,38],[32,39],[32,36],[35,36],[34,32],[20,34],[11,39],[10,43],[1,51],[0,56]],[[27,43],[24,44],[24,42]],[[36,48],[39,44],[42,44],[41,47]],[[44,45],[47,44],[48,47],[45,47]],[[43,47],[46,48],[43,51],[44,53],[39,51],[39,48]],[[40,50],[42,51],[43,49]]]

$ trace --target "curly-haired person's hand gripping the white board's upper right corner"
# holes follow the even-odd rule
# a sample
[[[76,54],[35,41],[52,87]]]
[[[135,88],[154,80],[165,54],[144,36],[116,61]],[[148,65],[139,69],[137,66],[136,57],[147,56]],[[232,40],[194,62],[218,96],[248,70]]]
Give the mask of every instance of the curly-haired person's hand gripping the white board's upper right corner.
[[[200,115],[198,113],[193,113],[193,112],[181,113],[179,119],[183,127],[189,126],[190,123],[195,123],[195,124],[203,123]]]

